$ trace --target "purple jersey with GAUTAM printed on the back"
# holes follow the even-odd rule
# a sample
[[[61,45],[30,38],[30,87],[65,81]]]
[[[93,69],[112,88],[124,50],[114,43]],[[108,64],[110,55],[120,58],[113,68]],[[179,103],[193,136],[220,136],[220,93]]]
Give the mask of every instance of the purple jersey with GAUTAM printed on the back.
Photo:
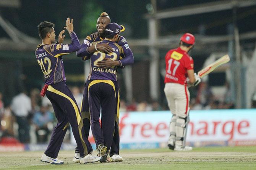
[[[91,45],[100,44],[100,43],[109,43],[109,46],[114,50],[110,54],[106,54],[104,52],[96,51],[89,56],[91,59],[91,71],[88,80],[113,80],[117,81],[117,68],[100,68],[97,65],[97,62],[103,60],[104,58],[110,58],[111,60],[120,60],[122,59],[121,55],[124,54],[124,50],[122,46],[111,40],[103,40],[91,43]]]

